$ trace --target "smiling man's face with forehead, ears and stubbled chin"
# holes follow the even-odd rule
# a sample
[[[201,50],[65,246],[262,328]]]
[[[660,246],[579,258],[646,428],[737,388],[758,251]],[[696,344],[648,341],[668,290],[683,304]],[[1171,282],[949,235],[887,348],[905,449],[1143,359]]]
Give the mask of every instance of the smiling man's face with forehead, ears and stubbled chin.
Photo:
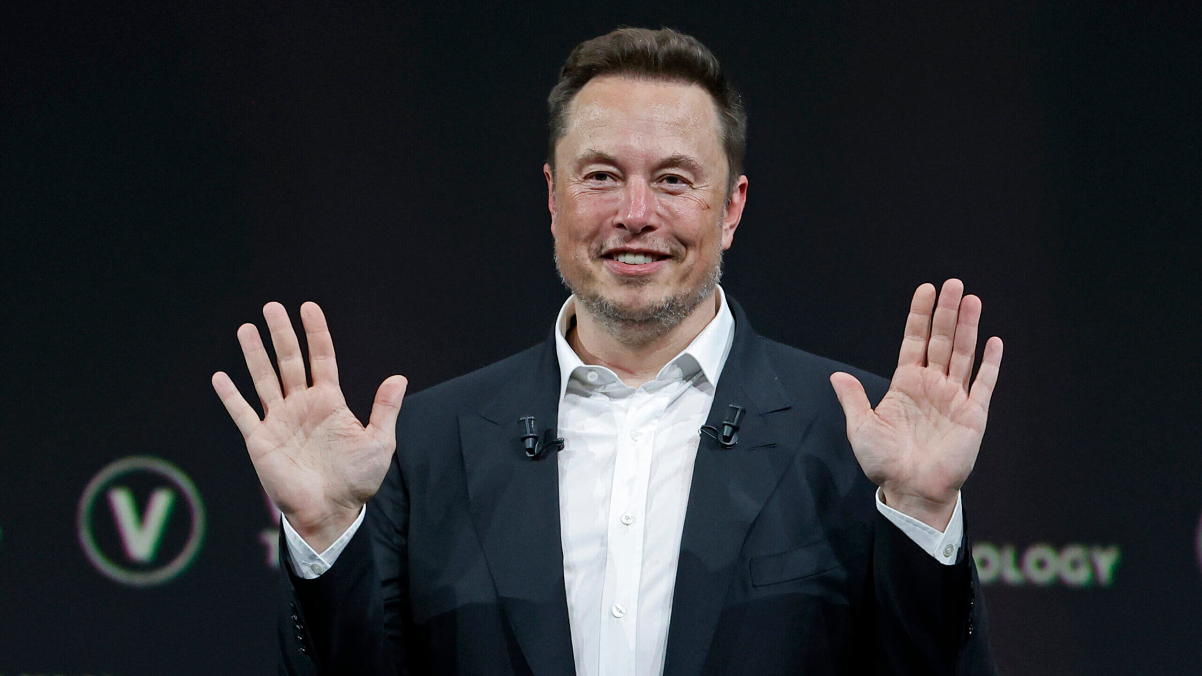
[[[727,192],[721,124],[704,89],[590,81],[571,103],[554,174],[543,173],[560,275],[594,314],[662,322],[713,290],[746,177]]]

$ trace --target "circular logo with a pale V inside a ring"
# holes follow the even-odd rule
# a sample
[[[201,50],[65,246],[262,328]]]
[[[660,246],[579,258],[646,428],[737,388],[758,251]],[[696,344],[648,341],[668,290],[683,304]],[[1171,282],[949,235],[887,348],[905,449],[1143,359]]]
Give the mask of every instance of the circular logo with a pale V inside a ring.
[[[179,576],[204,539],[196,485],[175,466],[150,456],[121,458],[100,470],[79,499],[77,522],[88,561],[135,587]]]

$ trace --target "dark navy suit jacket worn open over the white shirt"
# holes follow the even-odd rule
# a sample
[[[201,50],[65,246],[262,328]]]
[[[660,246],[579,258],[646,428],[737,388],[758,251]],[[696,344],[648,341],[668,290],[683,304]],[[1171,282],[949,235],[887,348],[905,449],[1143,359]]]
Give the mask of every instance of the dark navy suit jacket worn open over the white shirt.
[[[666,676],[992,674],[976,571],[918,548],[875,508],[827,380],[855,373],[751,331],[742,309],[702,435]],[[555,455],[518,419],[557,420],[553,340],[405,398],[364,526],[316,580],[285,570],[281,672],[573,672]],[[287,547],[280,550],[287,556]]]

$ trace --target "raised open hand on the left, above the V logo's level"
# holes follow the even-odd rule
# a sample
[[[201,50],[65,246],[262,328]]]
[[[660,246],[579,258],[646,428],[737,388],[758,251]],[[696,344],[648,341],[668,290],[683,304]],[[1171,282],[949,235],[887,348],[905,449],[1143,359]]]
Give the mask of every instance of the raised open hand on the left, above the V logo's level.
[[[287,310],[267,303],[263,316],[272,332],[279,378],[258,328],[254,324],[238,327],[263,419],[226,373],[213,374],[213,389],[242,431],[267,496],[305,542],[322,552],[355,522],[383,482],[397,447],[397,414],[409,383],[401,375],[386,379],[363,427],[346,408],[338,386],[334,343],[317,303],[300,306],[313,385],[305,379],[304,356]]]

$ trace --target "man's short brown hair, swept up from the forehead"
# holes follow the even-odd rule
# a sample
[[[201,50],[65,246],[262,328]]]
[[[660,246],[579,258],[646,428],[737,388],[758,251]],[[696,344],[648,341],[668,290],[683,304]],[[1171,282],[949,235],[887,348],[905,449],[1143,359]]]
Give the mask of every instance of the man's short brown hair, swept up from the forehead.
[[[555,167],[555,144],[566,132],[567,106],[588,82],[603,75],[630,75],[698,84],[714,99],[722,124],[722,148],[730,186],[743,173],[748,114],[743,97],[727,82],[722,66],[700,40],[670,28],[619,28],[585,40],[572,49],[559,71],[559,82],[547,96],[549,140],[547,164]]]

